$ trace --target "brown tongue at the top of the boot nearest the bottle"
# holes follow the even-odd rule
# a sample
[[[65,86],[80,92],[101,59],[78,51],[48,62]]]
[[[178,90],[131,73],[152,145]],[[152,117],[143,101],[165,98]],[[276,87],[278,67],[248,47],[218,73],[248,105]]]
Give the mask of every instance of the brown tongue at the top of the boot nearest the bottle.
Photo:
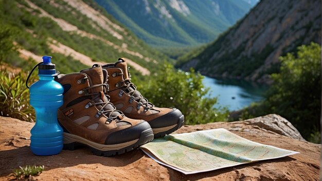
[[[81,73],[86,74],[91,79],[92,85],[103,83],[104,76],[103,76],[101,66],[81,70]],[[91,89],[92,93],[94,93],[94,92],[98,93],[98,92],[102,92],[102,91],[103,91],[103,86],[99,86],[99,87],[95,87],[95,88]]]

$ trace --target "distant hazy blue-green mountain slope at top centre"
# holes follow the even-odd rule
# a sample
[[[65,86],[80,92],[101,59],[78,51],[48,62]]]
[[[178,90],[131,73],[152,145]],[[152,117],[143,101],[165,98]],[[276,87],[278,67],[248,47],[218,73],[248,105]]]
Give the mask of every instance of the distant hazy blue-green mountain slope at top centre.
[[[95,0],[139,38],[156,47],[208,43],[252,7],[235,0]]]

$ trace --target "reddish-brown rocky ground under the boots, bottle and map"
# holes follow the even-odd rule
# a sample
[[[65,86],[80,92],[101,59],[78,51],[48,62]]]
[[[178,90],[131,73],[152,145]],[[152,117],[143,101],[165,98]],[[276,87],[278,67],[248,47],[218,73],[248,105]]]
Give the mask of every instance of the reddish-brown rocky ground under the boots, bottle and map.
[[[261,121],[263,124],[259,124]],[[45,171],[31,180],[318,180],[321,145],[298,140],[301,137],[295,134],[292,126],[290,130],[294,133],[281,131],[276,126],[271,129],[269,124],[274,122],[277,125],[284,122],[285,126],[281,128],[290,126],[277,115],[184,126],[177,133],[225,128],[249,140],[300,152],[284,158],[184,175],[157,164],[139,149],[114,157],[95,156],[87,148],[63,150],[53,156],[35,156],[29,148],[33,123],[0,117],[0,180],[12,179],[12,170],[25,165],[45,166]]]

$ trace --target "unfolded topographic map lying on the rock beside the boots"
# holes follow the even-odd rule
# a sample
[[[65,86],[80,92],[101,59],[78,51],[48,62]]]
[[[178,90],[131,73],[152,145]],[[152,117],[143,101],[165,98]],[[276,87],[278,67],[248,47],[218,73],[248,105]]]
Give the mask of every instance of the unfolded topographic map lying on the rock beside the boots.
[[[140,148],[159,164],[184,174],[298,153],[250,141],[225,129],[167,135]]]

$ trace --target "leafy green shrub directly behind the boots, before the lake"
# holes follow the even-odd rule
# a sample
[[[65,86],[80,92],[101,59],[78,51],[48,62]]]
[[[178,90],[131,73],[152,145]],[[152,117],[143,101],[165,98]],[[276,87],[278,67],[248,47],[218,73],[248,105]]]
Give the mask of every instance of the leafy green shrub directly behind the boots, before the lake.
[[[149,81],[137,85],[142,95],[156,106],[180,109],[185,115],[185,124],[227,120],[227,108],[218,106],[217,98],[208,96],[209,89],[202,80],[203,76],[192,69],[184,72],[165,63]]]

